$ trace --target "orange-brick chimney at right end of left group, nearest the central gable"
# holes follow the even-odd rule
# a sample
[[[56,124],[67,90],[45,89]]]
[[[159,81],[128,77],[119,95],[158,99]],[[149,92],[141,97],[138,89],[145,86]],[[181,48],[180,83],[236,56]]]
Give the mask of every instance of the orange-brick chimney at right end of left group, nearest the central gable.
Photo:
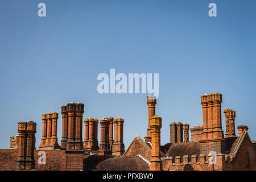
[[[114,143],[112,145],[113,155],[123,155],[125,152],[125,144],[123,144],[123,119],[114,119]]]

